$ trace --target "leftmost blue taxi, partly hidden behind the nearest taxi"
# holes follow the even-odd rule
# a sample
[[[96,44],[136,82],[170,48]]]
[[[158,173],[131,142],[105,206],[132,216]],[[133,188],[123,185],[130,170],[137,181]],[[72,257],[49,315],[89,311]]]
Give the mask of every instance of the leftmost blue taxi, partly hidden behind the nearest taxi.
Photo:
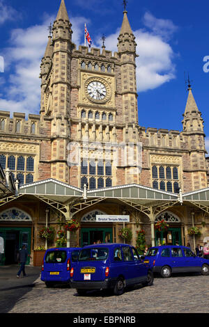
[[[77,262],[81,248],[49,248],[46,250],[40,280],[47,287],[70,282],[70,269]]]

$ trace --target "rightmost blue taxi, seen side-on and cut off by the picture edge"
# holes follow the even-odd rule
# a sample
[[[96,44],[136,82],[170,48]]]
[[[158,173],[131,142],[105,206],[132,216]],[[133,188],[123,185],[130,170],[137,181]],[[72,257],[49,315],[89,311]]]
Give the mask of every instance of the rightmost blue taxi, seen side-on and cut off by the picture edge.
[[[196,255],[186,246],[154,246],[149,248],[144,262],[153,267],[153,273],[164,278],[172,273],[201,273],[209,275],[209,260]]]

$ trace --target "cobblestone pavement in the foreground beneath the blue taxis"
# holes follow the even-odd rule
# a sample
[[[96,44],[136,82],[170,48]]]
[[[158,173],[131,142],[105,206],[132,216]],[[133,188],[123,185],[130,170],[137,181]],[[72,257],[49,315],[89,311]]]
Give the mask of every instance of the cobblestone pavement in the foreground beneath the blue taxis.
[[[37,272],[38,273],[38,272]],[[36,273],[36,274],[37,274]],[[26,280],[26,278],[22,278]],[[17,283],[20,280],[17,280]],[[25,281],[26,282],[26,281]],[[33,287],[32,287],[33,286]],[[3,291],[3,293],[2,293]],[[4,288],[0,301],[3,313],[208,313],[209,276],[189,275],[155,278],[151,287],[141,285],[121,296],[88,292],[78,296],[68,286],[45,287],[40,278],[31,285]]]

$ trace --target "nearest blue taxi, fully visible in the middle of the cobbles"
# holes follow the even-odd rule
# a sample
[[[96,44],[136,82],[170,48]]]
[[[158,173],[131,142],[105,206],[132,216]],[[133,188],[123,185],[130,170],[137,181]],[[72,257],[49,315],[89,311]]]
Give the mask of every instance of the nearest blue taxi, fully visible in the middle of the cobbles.
[[[70,270],[70,286],[79,295],[90,289],[112,289],[121,295],[125,287],[139,283],[152,285],[153,272],[129,244],[85,246]]]

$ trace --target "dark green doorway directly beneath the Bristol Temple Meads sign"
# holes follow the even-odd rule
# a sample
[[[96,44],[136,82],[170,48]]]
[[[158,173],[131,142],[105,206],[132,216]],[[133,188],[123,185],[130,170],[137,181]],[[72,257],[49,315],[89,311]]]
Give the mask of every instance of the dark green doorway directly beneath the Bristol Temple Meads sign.
[[[112,243],[112,228],[82,228],[81,246]]]

